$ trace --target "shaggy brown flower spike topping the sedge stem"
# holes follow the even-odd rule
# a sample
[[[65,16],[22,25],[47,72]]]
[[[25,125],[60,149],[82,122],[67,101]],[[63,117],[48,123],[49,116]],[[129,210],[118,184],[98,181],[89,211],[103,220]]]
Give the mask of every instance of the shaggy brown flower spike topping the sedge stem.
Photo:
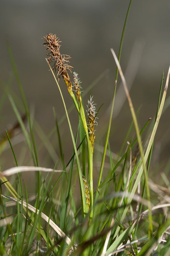
[[[58,70],[57,76],[59,76],[60,79],[60,75],[62,76],[62,78],[64,79],[66,85],[67,85],[67,89],[69,91],[72,91],[72,84],[69,78],[69,75],[67,73],[67,70],[71,71],[71,66],[69,66],[67,64],[67,62],[69,62],[69,58],[71,58],[69,55],[61,55],[60,54],[60,42],[58,37],[56,37],[56,35],[53,34],[47,34],[46,37],[44,37],[46,43],[44,43],[44,45],[46,46],[46,50],[50,51],[49,53],[47,53],[46,55],[49,56],[48,61],[49,63],[51,62],[55,62],[54,66],[53,66],[53,70],[56,69]]]

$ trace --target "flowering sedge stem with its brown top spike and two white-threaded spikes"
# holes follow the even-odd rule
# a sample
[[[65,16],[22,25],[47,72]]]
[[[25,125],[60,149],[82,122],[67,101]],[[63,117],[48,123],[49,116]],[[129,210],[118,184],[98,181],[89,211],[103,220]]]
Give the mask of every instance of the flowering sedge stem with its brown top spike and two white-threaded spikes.
[[[68,70],[70,72],[72,66],[68,65],[69,59],[71,58],[69,55],[61,55],[60,54],[60,42],[58,37],[53,34],[47,34],[46,37],[44,37],[44,40],[46,41],[44,45],[46,46],[46,50],[48,51],[47,56],[48,57],[48,62],[54,62],[54,65],[52,67],[53,70],[58,70],[57,76],[60,79],[64,79],[67,89],[73,99],[73,102],[75,104],[75,107],[80,115],[83,128],[85,131],[86,135],[86,141],[87,141],[87,152],[88,152],[88,179],[89,179],[89,195],[88,196],[88,204],[90,205],[90,219],[93,217],[93,148],[94,148],[94,140],[95,140],[95,134],[94,134],[94,125],[97,124],[95,121],[95,106],[92,102],[92,98],[90,96],[90,101],[88,101],[88,126],[85,118],[85,113],[84,113],[84,108],[82,104],[82,98],[81,98],[81,91],[80,91],[80,80],[78,78],[77,73],[74,74],[74,88],[76,91],[76,96],[79,101],[79,104],[77,103],[77,100],[75,98],[73,89],[72,89],[72,84],[70,77],[68,75]],[[83,179],[82,176],[79,177],[79,179]],[[84,182],[84,180],[83,180]],[[86,199],[87,200],[87,199]],[[88,208],[89,210],[89,208]]]

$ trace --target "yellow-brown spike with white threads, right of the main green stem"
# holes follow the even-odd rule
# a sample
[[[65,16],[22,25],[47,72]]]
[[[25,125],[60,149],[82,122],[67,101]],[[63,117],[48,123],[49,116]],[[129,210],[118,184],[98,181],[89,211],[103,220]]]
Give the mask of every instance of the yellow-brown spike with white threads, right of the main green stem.
[[[92,101],[92,98],[90,96],[90,100],[88,100],[88,110],[87,111],[87,114],[88,114],[88,121],[87,121],[87,124],[88,124],[88,128],[89,128],[89,141],[90,141],[90,145],[91,147],[93,148],[94,147],[94,143],[95,143],[95,130],[94,130],[94,126],[95,124],[97,124],[96,122],[96,108],[95,108],[95,104],[93,104],[94,101]]]

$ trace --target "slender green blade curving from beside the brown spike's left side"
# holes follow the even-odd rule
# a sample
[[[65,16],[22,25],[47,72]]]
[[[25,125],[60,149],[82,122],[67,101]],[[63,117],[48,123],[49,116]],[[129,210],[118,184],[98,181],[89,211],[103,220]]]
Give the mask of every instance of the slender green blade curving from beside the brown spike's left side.
[[[47,61],[47,63],[48,63],[48,61]],[[48,65],[49,65],[49,63],[48,63]],[[50,67],[50,65],[49,65],[49,67]],[[63,98],[61,89],[59,87],[59,84],[57,82],[57,79],[56,79],[56,77],[54,75],[54,72],[51,69],[51,67],[50,67],[50,70],[51,70],[51,72],[52,72],[52,74],[54,76],[54,79],[55,79],[55,81],[57,83],[57,86],[58,86],[58,89],[60,91],[60,95],[61,95],[61,98],[62,98],[62,101],[63,101],[63,104],[64,104],[64,109],[65,109],[65,112],[66,112],[66,115],[67,115],[67,120],[68,120],[68,123],[69,123],[70,133],[71,133],[71,137],[72,137],[72,141],[73,141],[73,146],[74,146],[74,151],[75,151],[75,157],[76,157],[76,161],[77,161],[77,168],[78,168],[78,172],[79,172],[79,181],[80,181],[80,190],[81,190],[81,201],[82,201],[82,217],[85,218],[85,216],[88,213],[88,209],[87,209],[87,204],[86,204],[86,197],[85,197],[84,184],[83,184],[83,178],[82,178],[82,172],[81,172],[81,167],[80,167],[79,156],[77,154],[75,140],[74,140],[74,136],[73,136],[73,132],[72,132],[69,116],[68,116],[67,109],[66,109],[66,104],[64,102],[64,98]]]

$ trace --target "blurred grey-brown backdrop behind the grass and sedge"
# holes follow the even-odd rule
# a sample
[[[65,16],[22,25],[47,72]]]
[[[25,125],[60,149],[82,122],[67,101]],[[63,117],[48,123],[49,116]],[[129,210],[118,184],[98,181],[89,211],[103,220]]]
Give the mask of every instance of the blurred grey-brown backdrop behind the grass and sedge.
[[[79,74],[84,91],[82,93],[84,105],[87,104],[90,95],[94,95],[96,110],[104,103],[98,114],[95,142],[96,147],[98,143],[104,146],[116,74],[116,65],[110,48],[113,48],[118,56],[130,1],[1,0],[0,3],[0,95],[12,74],[6,46],[8,40],[31,113],[46,135],[53,129],[55,120],[52,108],[55,107],[57,120],[60,121],[64,107],[45,60],[47,52],[42,38],[48,33],[56,34],[62,41],[60,53],[71,56],[72,71]],[[166,81],[170,64],[169,12],[169,0],[134,0],[130,9],[120,63],[135,111],[140,108],[138,114],[140,128],[150,117],[154,120],[163,70]],[[73,81],[73,74],[69,73],[69,75]],[[98,81],[95,86],[86,93],[89,85],[96,79]],[[59,84],[69,109],[72,99],[62,79]],[[15,76],[10,83],[10,90],[21,99]],[[168,88],[167,98],[169,91]],[[78,125],[75,110],[70,113],[70,119],[75,134]],[[10,102],[6,98],[2,109],[1,135],[5,135],[4,127],[14,125],[16,121]],[[112,152],[120,151],[131,122],[132,116],[119,76],[109,139]],[[169,126],[169,108],[167,108],[161,117],[155,138],[154,161],[160,162],[160,168],[165,166],[169,158]],[[60,130],[65,158],[69,160],[73,146],[67,121],[60,125]],[[133,134],[135,137],[134,129],[131,135]],[[36,142],[37,146],[41,143],[37,135]],[[52,139],[52,143],[58,154],[57,136]],[[20,144],[14,148],[18,158],[21,148]],[[40,165],[53,168],[54,162],[51,158],[44,163],[46,154],[45,148],[40,150]],[[1,155],[0,160],[3,169],[14,166],[10,149]]]

